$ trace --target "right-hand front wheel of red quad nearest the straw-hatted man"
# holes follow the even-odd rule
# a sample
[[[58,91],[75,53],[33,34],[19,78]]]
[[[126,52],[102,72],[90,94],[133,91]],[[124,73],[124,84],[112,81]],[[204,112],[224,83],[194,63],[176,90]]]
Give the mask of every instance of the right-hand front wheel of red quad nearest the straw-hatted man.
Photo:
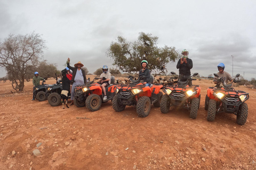
[[[91,94],[90,96],[88,96],[86,98],[85,105],[92,112],[98,111],[101,107],[101,98],[100,98],[100,96],[95,95],[95,94]]]

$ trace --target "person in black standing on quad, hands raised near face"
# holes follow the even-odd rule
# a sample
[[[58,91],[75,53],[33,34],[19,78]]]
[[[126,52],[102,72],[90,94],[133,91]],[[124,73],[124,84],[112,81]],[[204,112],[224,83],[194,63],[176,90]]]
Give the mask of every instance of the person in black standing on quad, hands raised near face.
[[[177,69],[179,69],[179,81],[187,81],[190,78],[190,70],[193,67],[193,62],[190,58],[188,58],[188,50],[182,50],[182,57],[177,63]],[[188,86],[192,86],[192,82],[188,82]]]

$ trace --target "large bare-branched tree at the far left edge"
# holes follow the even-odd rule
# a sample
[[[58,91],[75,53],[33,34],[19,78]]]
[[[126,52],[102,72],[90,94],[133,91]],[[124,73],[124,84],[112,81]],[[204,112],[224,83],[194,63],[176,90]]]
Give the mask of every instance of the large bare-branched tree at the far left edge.
[[[5,67],[14,90],[23,91],[25,77],[37,65],[44,48],[45,40],[34,32],[25,36],[9,35],[0,42],[0,66]]]

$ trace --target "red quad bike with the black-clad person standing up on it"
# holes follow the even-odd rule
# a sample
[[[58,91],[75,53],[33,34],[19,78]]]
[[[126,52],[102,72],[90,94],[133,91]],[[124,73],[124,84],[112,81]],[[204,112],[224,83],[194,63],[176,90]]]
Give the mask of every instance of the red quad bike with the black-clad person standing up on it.
[[[172,74],[176,74],[171,72]],[[194,73],[192,76],[197,75]],[[201,87],[199,85],[188,86],[189,81],[196,79],[188,79],[187,81],[178,81],[178,84],[167,85],[163,87],[165,95],[161,101],[161,112],[168,113],[170,111],[170,106],[181,106],[190,110],[189,117],[196,118],[197,111],[200,105],[200,92]]]

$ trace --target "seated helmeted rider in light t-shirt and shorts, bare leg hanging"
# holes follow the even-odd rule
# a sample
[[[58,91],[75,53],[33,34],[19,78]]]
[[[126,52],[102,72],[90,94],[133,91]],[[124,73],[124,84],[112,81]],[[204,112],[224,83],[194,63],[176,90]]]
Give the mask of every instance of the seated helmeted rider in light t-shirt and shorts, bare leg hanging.
[[[110,85],[111,73],[108,72],[108,66],[107,65],[103,65],[102,71],[103,71],[103,73],[100,74],[100,78],[101,78],[100,84],[101,84],[101,88],[102,88],[102,91],[103,91],[103,94],[104,94],[103,100],[107,100],[105,87],[108,87]]]

